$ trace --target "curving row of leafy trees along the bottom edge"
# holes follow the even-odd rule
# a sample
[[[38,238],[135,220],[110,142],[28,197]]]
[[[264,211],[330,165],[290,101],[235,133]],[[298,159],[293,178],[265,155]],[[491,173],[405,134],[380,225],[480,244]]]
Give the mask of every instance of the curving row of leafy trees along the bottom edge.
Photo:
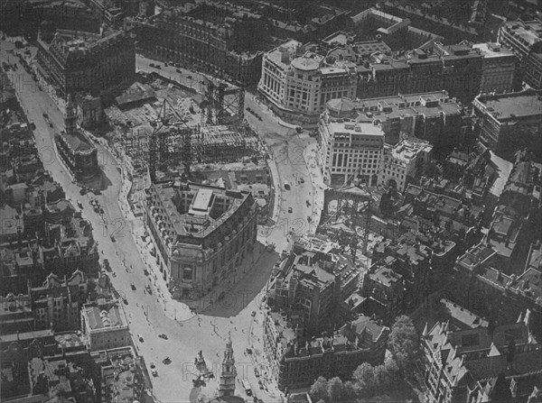
[[[339,377],[318,378],[311,387],[311,398],[318,403],[356,402],[396,389],[407,374],[413,373],[419,355],[419,336],[408,316],[398,316],[388,337],[391,356],[384,364],[362,363],[352,374],[352,380]]]

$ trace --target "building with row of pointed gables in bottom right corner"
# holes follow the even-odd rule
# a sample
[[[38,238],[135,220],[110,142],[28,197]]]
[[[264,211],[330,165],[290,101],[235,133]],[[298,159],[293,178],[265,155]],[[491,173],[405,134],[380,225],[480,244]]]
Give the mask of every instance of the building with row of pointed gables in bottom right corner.
[[[530,334],[526,317],[492,330],[477,327],[452,331],[448,322],[437,322],[431,328],[425,325],[425,401],[527,401],[519,398],[519,388],[530,385],[520,393],[528,396],[532,392],[532,380],[542,373],[542,348]],[[508,380],[508,387],[492,393],[498,377]]]

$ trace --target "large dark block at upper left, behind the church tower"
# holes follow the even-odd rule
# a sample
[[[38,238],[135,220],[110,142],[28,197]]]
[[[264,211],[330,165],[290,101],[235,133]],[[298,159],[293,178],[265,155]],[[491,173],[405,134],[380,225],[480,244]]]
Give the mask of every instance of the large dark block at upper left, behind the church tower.
[[[135,74],[135,46],[123,31],[100,34],[57,30],[38,38],[38,72],[63,97],[114,87]]]

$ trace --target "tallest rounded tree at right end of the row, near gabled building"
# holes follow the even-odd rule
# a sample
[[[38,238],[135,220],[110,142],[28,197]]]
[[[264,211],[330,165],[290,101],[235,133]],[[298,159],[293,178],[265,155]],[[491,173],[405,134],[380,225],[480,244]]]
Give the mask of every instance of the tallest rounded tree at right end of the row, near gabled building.
[[[405,315],[397,317],[391,326],[388,347],[399,370],[406,373],[419,353],[419,336],[410,317]]]

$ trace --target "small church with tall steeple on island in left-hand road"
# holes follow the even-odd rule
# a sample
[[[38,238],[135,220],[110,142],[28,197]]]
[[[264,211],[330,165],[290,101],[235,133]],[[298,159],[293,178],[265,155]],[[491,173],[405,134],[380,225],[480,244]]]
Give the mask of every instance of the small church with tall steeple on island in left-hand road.
[[[56,135],[57,150],[71,172],[79,179],[98,174],[98,149],[87,133],[77,127],[78,112],[73,96],[68,96],[65,130]]]

